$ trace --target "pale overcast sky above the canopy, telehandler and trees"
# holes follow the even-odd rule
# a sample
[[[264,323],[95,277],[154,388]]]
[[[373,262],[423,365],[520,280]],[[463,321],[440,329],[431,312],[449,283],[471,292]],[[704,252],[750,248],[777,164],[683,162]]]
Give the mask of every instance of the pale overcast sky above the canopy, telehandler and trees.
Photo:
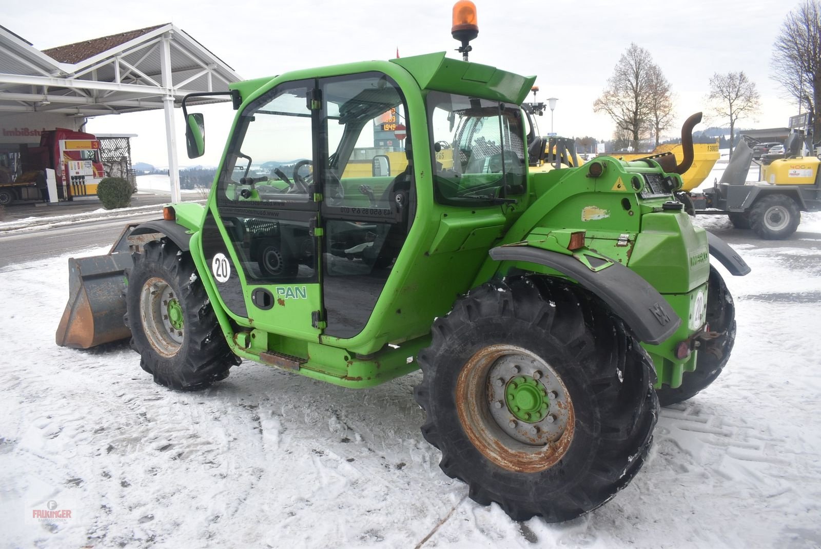
[[[715,72],[745,71],[761,94],[761,109],[741,127],[782,127],[798,112],[769,67],[773,41],[787,12],[799,2],[689,0],[641,2],[498,2],[475,0],[479,38],[471,61],[522,75],[537,75],[539,99],[559,99],[553,129],[559,135],[610,139],[613,124],[594,114],[593,102],[621,53],[631,42],[646,48],[672,85],[676,126],[693,112],[709,115],[705,96]],[[232,0],[142,0],[80,7],[41,0],[3,12],[3,25],[47,49],[126,30],[173,22],[209,48],[244,79],[310,66],[402,57],[449,50],[452,2],[255,2]],[[406,6],[406,7],[405,7]],[[233,111],[227,103],[206,106],[206,156],[184,152],[182,114],[177,110],[181,165],[216,164]],[[710,125],[727,121],[708,119]],[[698,126],[704,128],[706,126]],[[135,133],[134,162],[167,165],[163,114],[140,112],[98,117],[89,131]],[[540,121],[550,131],[549,111]],[[677,133],[672,130],[671,135]]]

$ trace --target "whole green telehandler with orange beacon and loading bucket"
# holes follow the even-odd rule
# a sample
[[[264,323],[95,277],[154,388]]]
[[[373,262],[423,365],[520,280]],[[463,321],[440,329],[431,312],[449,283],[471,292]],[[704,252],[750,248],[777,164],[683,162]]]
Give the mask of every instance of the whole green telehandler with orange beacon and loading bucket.
[[[536,172],[534,77],[467,62],[466,4],[464,60],[231,85],[207,204],[71,259],[58,344],[130,332],[142,368],[182,391],[240,359],[351,388],[421,368],[424,438],[479,504],[557,522],[610,500],[648,455],[659,401],[727,363],[735,313],[710,255],[750,269],[674,198],[699,117],[690,159]],[[183,112],[195,158],[204,120]]]

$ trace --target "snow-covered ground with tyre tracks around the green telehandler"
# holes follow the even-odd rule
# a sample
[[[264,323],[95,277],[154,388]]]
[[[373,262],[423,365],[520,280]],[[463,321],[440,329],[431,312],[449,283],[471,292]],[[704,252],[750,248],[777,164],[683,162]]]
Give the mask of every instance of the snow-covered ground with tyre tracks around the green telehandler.
[[[439,470],[419,373],[355,391],[245,362],[168,391],[127,345],[54,345],[67,256],[4,268],[0,546],[819,547],[821,213],[799,231],[736,245],[753,272],[719,267],[738,323],[726,371],[663,409],[630,486],[555,525],[478,506]],[[48,501],[71,517],[31,519]]]

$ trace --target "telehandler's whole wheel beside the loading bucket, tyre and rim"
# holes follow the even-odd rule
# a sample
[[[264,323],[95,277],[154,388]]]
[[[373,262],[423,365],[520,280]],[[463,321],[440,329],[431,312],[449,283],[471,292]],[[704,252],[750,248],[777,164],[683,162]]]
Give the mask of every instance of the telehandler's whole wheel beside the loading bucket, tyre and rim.
[[[190,254],[171,240],[153,240],[131,255],[126,272],[126,326],[140,366],[154,382],[196,391],[239,364],[225,341]]]

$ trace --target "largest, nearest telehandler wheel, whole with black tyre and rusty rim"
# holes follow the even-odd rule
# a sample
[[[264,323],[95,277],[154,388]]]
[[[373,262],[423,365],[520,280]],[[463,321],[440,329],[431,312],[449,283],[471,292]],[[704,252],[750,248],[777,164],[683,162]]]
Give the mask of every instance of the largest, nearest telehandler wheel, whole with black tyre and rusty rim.
[[[474,501],[514,520],[569,520],[644,463],[658,415],[652,365],[588,292],[539,277],[488,283],[432,332],[415,388],[422,433]]]

